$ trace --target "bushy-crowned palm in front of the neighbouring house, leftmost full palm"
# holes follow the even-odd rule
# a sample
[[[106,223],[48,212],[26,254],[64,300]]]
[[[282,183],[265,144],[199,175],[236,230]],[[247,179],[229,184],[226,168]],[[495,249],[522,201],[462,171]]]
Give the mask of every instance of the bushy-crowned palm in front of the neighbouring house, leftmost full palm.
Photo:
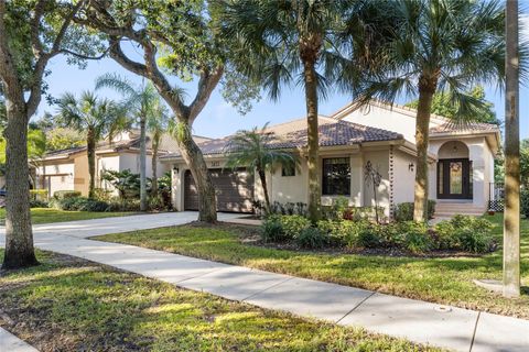
[[[57,120],[82,133],[86,133],[88,173],[90,175],[88,197],[95,197],[96,188],[96,144],[105,136],[112,135],[128,127],[123,108],[112,100],[99,99],[93,91],[84,91],[77,99],[73,94],[64,94],[58,100]]]

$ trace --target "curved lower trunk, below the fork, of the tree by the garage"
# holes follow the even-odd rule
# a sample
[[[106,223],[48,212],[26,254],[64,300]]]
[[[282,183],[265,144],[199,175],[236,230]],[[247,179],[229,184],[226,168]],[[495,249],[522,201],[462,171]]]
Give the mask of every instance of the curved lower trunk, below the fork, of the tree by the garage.
[[[206,161],[204,160],[202,151],[195,141],[193,141],[191,127],[184,122],[180,123],[182,123],[184,131],[182,131],[179,138],[179,146],[182,152],[182,157],[190,167],[198,193],[198,221],[214,223],[217,221],[217,201],[215,187],[207,170]]]

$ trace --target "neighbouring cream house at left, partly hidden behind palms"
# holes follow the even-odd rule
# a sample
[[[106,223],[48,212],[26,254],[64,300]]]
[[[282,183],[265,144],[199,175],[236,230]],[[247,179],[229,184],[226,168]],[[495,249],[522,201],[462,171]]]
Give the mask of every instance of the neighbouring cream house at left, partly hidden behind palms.
[[[206,138],[195,136],[196,142],[204,142]],[[176,142],[164,134],[159,147],[159,155],[177,151]],[[72,147],[47,153],[36,161],[36,188],[47,189],[48,196],[57,190],[78,190],[83,196],[88,195],[89,173],[86,146]],[[152,176],[151,141],[147,140],[147,177]],[[140,133],[138,130],[126,131],[105,140],[96,148],[96,187],[114,190],[107,182],[100,179],[104,170],[140,172]],[[168,172],[168,165],[158,162],[158,176]]]

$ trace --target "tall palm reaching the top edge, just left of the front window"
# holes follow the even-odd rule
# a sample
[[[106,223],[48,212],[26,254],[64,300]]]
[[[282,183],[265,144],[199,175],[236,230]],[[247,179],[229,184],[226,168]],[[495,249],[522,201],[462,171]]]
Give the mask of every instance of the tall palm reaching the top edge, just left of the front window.
[[[357,46],[364,54],[379,40],[370,31],[375,26],[365,21],[378,19],[374,14],[385,6],[353,0],[241,0],[226,2],[222,9],[224,35],[236,43],[234,64],[244,76],[260,82],[272,100],[279,98],[282,86],[294,82],[304,89],[312,221],[321,217],[319,101],[348,65],[353,35],[361,34],[364,45]],[[381,28],[377,31],[384,33]]]

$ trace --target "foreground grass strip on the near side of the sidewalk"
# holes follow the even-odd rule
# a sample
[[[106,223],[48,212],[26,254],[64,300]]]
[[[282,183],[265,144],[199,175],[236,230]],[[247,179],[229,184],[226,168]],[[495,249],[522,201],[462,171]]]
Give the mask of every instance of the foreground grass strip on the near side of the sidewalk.
[[[438,351],[69,256],[37,256],[40,266],[0,272],[0,326],[42,351]]]

